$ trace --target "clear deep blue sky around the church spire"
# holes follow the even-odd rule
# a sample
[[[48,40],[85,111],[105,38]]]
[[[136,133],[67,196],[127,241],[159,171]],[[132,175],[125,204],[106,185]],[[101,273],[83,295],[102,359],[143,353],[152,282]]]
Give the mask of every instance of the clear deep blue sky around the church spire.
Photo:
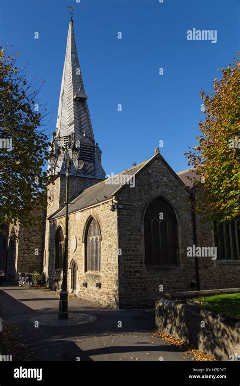
[[[66,5],[74,7],[78,57],[106,173],[150,158],[160,140],[170,166],[187,169],[184,152],[195,145],[203,114],[199,91],[211,91],[217,69],[232,62],[239,48],[238,0],[0,0],[0,43],[20,53],[18,66],[28,63],[27,79],[45,80],[41,99],[53,109],[52,132]],[[188,41],[186,31],[193,28],[217,30],[217,43]]]

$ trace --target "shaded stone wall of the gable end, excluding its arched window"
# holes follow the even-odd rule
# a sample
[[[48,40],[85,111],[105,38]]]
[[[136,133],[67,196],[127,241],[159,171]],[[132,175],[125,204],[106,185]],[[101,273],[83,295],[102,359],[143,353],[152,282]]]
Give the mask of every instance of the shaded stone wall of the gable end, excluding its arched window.
[[[186,291],[196,282],[194,260],[186,256],[186,248],[193,244],[191,213],[186,210],[189,193],[159,157],[153,159],[136,175],[135,187],[127,186],[119,192],[121,204],[130,204],[118,212],[119,248],[119,306],[154,307],[163,292]],[[144,210],[156,196],[167,199],[178,219],[178,267],[146,267],[144,249]],[[128,210],[127,208],[130,208]],[[162,293],[163,294],[163,293]]]

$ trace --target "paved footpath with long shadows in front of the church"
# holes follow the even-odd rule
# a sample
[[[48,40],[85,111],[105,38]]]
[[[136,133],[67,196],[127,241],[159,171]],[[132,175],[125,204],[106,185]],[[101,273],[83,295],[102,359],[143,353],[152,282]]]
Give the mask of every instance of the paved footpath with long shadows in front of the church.
[[[178,347],[152,335],[154,310],[115,310],[72,298],[68,303],[70,313],[91,314],[97,319],[61,327],[39,324],[36,328],[29,323],[31,318],[37,320],[50,313],[57,319],[58,304],[55,292],[0,287],[0,317],[4,328],[12,324],[9,339],[15,341],[14,352],[6,355],[18,360],[23,351],[25,360],[33,361],[159,361],[161,357],[164,361],[192,361]]]

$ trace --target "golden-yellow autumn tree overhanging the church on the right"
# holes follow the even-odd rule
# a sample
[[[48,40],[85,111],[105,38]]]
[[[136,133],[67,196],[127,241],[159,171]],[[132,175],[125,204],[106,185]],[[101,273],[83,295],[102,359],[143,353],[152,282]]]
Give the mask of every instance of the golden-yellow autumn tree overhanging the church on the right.
[[[204,121],[196,137],[198,145],[185,153],[196,174],[195,211],[216,223],[239,215],[239,62],[221,69],[210,95],[201,91]],[[199,178],[201,176],[201,178]]]

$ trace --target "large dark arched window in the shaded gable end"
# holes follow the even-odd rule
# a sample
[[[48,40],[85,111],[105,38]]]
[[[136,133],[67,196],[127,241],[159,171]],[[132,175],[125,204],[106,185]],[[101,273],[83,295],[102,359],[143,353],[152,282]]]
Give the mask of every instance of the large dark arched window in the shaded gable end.
[[[177,219],[162,198],[155,198],[146,209],[144,240],[146,265],[178,265]]]

